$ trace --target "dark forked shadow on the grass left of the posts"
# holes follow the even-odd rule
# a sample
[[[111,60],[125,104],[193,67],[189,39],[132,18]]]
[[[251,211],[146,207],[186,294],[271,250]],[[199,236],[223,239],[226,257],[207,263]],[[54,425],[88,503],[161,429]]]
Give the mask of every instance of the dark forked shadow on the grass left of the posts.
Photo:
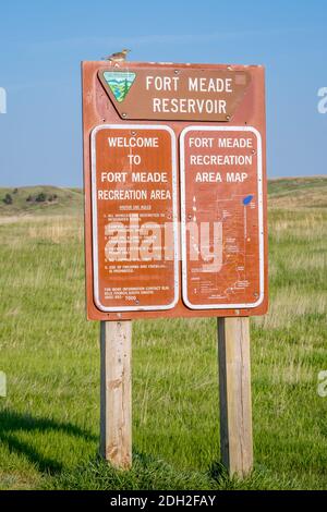
[[[63,465],[44,456],[28,442],[19,438],[22,432],[63,432],[85,440],[94,441],[96,436],[71,423],[56,422],[46,417],[33,417],[29,414],[19,414],[10,410],[0,411],[0,442],[11,452],[24,455],[34,463],[38,470],[49,475],[55,475],[63,470]]]

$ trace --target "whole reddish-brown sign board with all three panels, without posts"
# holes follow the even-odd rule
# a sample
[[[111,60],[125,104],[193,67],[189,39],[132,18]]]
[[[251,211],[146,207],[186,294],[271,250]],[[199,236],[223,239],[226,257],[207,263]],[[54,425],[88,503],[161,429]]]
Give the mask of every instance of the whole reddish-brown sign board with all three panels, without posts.
[[[88,318],[266,313],[264,69],[82,73]]]

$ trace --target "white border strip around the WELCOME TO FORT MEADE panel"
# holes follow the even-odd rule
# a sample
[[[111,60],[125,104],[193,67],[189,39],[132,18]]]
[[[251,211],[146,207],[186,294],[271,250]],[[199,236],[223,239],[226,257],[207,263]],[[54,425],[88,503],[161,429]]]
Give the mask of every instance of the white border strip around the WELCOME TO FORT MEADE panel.
[[[101,130],[164,130],[171,136],[171,167],[172,167],[172,222],[174,242],[173,264],[173,301],[168,305],[150,306],[113,306],[106,307],[99,300],[99,265],[98,265],[98,216],[97,216],[97,183],[96,183],[96,135]],[[92,227],[93,227],[93,281],[94,302],[104,313],[118,312],[149,312],[172,309],[179,301],[179,231],[178,231],[178,200],[177,200],[177,137],[173,130],[166,124],[99,124],[90,132],[90,174],[92,174]]]

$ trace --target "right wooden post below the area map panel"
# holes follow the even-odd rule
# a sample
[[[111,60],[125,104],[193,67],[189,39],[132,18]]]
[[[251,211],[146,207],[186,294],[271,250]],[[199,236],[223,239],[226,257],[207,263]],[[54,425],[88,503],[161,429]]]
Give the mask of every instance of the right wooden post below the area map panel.
[[[230,476],[253,468],[249,318],[218,318],[220,450]]]

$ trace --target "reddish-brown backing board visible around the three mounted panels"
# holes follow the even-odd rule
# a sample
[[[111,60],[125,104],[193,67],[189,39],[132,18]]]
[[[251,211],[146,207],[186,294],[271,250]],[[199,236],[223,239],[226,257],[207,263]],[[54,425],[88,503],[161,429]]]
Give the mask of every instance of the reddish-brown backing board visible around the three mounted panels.
[[[150,120],[131,120],[121,119],[117,108],[106,92],[104,84],[99,80],[99,72],[104,71],[132,71],[148,69],[153,74],[156,70],[181,70],[186,73],[187,70],[222,70],[240,72],[246,70],[251,75],[249,87],[238,106],[237,110],[229,120],[226,121],[178,121],[167,119],[155,121]],[[162,74],[162,73],[161,73]],[[165,63],[165,62],[110,62],[110,61],[84,61],[82,62],[82,82],[83,82],[83,147],[84,147],[84,216],[85,216],[85,266],[86,266],[86,314],[92,320],[131,320],[131,319],[153,319],[153,318],[195,318],[195,317],[247,317],[259,316],[267,313],[268,308],[268,236],[267,236],[267,195],[266,195],[266,113],[265,113],[265,69],[263,65],[242,65],[242,64],[198,64],[198,63]],[[134,85],[132,86],[134,87]],[[122,102],[123,105],[123,102]],[[152,310],[119,310],[102,312],[94,301],[94,270],[93,270],[93,206],[92,206],[92,182],[90,182],[90,133],[104,124],[121,125],[125,127],[129,124],[140,125],[142,127],[150,125],[169,126],[175,134],[177,142],[184,129],[190,125],[220,126],[227,129],[232,126],[253,126],[262,135],[262,158],[263,158],[263,217],[264,217],[264,298],[258,306],[246,308],[198,308],[191,309],[183,301],[182,296],[182,264],[179,255],[179,300],[174,307],[170,309]],[[179,147],[177,145],[177,155]],[[181,219],[180,205],[180,158],[177,161],[177,188],[178,188],[178,220]],[[181,230],[179,230],[181,231]],[[181,244],[179,235],[179,244]],[[179,248],[181,253],[181,247]]]

